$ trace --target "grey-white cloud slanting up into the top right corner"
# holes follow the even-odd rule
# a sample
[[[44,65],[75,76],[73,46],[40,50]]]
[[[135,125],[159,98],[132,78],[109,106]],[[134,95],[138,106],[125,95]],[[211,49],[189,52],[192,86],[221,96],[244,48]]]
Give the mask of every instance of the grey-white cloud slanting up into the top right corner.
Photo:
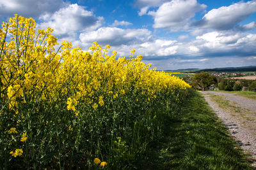
[[[239,22],[248,18],[256,11],[256,1],[246,3],[234,3],[230,6],[221,6],[218,9],[212,9],[204,15],[202,20],[195,22],[193,25],[204,29],[228,30],[235,27]],[[255,23],[245,26],[245,29],[255,27]]]

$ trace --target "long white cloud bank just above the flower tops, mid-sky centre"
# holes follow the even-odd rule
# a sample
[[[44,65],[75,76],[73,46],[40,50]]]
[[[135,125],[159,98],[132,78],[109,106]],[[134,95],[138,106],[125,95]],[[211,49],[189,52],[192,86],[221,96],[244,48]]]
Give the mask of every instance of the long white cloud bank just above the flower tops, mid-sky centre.
[[[93,41],[97,41],[102,46],[111,45],[111,50],[117,51],[118,56],[128,56],[132,48],[136,50],[136,55],[145,58],[168,56],[177,53],[180,46],[175,40],[154,39],[152,32],[147,29],[101,27],[97,31],[83,32],[79,38],[82,48],[86,50]]]

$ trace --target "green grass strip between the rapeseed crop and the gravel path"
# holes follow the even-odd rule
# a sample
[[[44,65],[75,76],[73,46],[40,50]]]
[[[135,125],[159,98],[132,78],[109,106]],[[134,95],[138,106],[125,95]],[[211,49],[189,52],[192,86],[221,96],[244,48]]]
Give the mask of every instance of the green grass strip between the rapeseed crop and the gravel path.
[[[253,169],[198,92],[166,117],[164,134],[148,145],[138,169]]]

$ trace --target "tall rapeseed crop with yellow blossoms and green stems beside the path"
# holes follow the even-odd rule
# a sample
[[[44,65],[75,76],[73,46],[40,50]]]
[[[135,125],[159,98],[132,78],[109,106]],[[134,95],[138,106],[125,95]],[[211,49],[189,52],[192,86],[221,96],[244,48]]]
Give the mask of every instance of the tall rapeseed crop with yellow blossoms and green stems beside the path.
[[[189,85],[150,69],[133,49],[117,57],[94,42],[83,52],[59,44],[52,31],[18,15],[0,29],[0,166],[93,167],[100,157],[108,167],[135,159],[160,125],[156,108],[180,103]]]

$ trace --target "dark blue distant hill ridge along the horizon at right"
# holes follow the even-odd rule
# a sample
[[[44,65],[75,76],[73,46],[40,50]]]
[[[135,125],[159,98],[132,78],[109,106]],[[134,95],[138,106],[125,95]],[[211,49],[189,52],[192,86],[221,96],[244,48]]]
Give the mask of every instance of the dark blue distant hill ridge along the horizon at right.
[[[200,73],[205,72],[241,72],[241,71],[256,71],[256,66],[244,66],[244,67],[221,67],[214,69],[176,69],[176,70],[165,70],[166,72],[190,72],[190,73]]]

